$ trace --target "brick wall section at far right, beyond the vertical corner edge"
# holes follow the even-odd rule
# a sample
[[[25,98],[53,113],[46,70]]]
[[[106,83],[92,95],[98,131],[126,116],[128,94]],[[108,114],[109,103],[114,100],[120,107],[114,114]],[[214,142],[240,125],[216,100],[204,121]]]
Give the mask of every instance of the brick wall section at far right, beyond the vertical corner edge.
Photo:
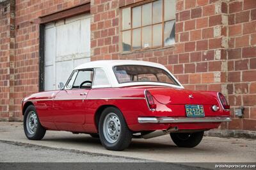
[[[256,129],[256,1],[231,1],[228,16],[228,100],[244,106],[244,118],[228,128]],[[234,115],[233,115],[234,116]]]

